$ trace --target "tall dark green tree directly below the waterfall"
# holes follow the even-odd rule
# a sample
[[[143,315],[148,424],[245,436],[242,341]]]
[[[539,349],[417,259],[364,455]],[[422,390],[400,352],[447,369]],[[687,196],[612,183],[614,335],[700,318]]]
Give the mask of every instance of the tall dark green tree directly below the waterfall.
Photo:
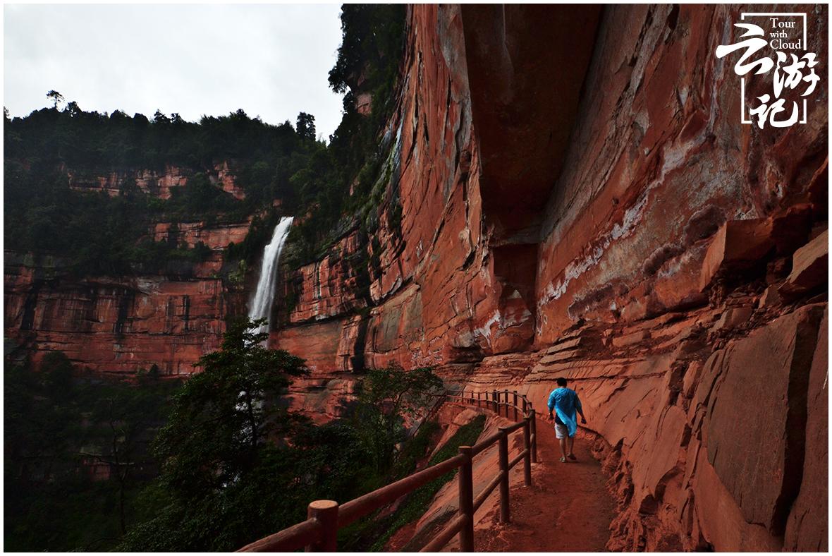
[[[164,462],[156,486],[162,510],[126,535],[125,550],[231,550],[299,519],[305,489],[285,443],[305,419],[281,401],[304,361],[266,349],[263,320],[230,325],[221,349],[176,395],[155,441]]]

